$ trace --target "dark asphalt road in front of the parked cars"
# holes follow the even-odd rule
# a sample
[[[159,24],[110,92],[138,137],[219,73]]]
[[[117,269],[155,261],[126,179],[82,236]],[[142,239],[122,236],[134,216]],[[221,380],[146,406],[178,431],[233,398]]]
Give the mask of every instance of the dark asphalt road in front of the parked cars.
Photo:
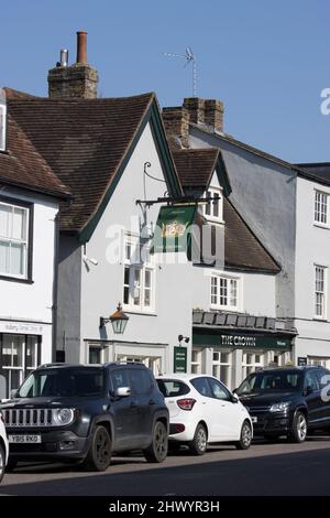
[[[7,474],[0,496],[329,496],[330,438],[304,444],[255,442],[248,451],[188,450],[163,464],[144,457],[113,456],[105,473],[63,464],[21,464]]]

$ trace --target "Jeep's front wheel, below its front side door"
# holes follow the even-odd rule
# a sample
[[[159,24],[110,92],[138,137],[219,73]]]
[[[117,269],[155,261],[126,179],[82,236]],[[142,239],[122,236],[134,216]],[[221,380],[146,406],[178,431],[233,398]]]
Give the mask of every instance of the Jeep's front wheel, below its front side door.
[[[92,434],[85,466],[94,472],[103,472],[111,462],[112,442],[106,427],[97,427]]]

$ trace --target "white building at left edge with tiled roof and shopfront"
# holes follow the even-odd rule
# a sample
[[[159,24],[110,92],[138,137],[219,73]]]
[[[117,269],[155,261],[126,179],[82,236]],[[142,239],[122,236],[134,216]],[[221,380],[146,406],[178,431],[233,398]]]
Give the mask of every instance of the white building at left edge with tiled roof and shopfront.
[[[21,128],[21,101],[0,90],[0,399],[55,358],[58,204],[69,197]]]

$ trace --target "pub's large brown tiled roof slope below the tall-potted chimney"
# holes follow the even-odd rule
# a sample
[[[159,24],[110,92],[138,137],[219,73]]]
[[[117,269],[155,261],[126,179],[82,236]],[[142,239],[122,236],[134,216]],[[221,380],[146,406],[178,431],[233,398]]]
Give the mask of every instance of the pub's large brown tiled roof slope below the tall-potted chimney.
[[[108,99],[8,96],[16,128],[73,193],[72,203],[62,207],[63,230],[82,229],[95,214],[154,99],[154,94]]]

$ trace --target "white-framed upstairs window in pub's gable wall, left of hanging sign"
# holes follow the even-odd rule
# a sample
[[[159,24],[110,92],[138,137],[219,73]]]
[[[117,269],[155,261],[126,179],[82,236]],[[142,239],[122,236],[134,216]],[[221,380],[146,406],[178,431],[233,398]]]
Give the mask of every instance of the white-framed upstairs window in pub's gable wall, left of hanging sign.
[[[127,247],[131,247],[131,259],[127,257]],[[124,236],[124,250],[123,250],[123,309],[131,312],[139,313],[154,313],[155,311],[155,268],[154,258],[147,253],[145,262],[143,258],[136,257],[136,262],[132,262],[132,253],[140,250],[141,239],[139,236],[125,235]],[[148,245],[145,245],[148,248]],[[139,253],[140,256],[140,253]],[[133,256],[134,259],[134,256]],[[125,270],[129,269],[129,283],[125,284]],[[135,287],[135,276],[139,272],[140,284]],[[150,287],[145,285],[146,272],[150,272]],[[129,302],[125,302],[124,289],[129,288]],[[134,289],[140,290],[140,303],[134,303]],[[145,304],[145,292],[150,292],[150,305]]]

